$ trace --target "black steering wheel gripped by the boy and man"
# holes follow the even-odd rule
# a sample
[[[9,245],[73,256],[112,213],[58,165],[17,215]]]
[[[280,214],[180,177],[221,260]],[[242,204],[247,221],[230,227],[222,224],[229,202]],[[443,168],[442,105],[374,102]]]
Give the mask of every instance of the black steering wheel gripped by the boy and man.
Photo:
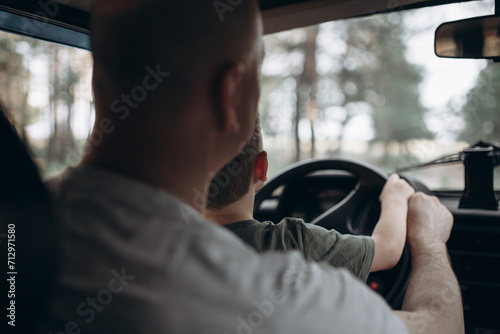
[[[258,212],[261,204],[271,198],[280,186],[300,180],[310,173],[326,170],[348,172],[355,176],[356,185],[342,201],[316,217],[310,224],[335,229],[343,234],[371,235],[380,213],[378,197],[388,176],[374,166],[351,159],[308,160],[290,166],[266,183],[255,195],[254,212]],[[371,217],[373,212],[377,212],[376,217]],[[387,289],[378,292],[393,309],[400,309],[410,272],[410,252],[405,246],[399,263],[393,269],[370,274],[367,284],[375,291],[380,285],[386,286]]]

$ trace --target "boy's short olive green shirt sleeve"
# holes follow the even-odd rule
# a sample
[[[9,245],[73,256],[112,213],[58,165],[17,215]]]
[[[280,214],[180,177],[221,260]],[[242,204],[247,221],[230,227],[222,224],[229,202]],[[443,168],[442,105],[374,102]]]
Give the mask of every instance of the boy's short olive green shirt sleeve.
[[[306,260],[346,268],[366,282],[375,256],[371,237],[340,234],[297,218],[285,218],[274,228],[281,230],[285,246],[300,249]]]

